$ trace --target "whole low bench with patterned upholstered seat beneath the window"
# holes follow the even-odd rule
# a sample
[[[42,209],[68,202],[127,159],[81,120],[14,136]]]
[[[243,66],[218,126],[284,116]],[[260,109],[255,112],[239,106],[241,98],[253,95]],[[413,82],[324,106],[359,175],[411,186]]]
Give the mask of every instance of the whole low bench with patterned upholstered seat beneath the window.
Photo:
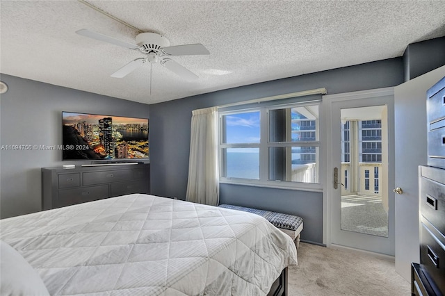
[[[295,241],[298,248],[300,246],[300,232],[303,229],[303,220],[296,215],[289,215],[271,211],[259,210],[257,208],[246,208],[245,206],[234,206],[232,204],[220,204],[222,208],[231,208],[232,210],[245,211],[264,217],[273,226],[277,227]]]

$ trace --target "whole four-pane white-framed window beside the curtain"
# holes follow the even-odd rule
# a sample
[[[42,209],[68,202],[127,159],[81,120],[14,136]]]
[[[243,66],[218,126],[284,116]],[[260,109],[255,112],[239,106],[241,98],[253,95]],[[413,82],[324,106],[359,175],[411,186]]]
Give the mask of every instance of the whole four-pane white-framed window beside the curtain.
[[[318,113],[314,102],[220,112],[220,180],[318,184]]]

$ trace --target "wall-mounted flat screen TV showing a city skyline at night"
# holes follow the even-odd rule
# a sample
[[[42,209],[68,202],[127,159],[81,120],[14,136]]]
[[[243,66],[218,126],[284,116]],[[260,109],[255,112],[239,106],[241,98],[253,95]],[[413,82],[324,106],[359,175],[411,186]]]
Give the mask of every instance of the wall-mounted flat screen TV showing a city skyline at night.
[[[149,158],[148,119],[62,113],[63,160]]]

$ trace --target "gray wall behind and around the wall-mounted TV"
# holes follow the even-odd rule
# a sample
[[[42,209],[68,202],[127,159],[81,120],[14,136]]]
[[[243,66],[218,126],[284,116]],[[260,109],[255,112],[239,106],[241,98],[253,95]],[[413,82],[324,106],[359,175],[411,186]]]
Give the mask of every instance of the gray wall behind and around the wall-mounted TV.
[[[62,111],[149,117],[149,106],[1,74],[0,145],[61,145]],[[41,167],[60,166],[62,151],[1,150],[0,217],[41,211]]]

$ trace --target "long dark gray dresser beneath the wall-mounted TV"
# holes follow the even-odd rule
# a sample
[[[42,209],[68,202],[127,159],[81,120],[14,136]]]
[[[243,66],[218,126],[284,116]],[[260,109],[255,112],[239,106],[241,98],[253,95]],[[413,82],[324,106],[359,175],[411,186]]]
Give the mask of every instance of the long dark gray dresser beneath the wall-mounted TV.
[[[149,193],[150,165],[106,165],[42,168],[42,208],[72,204],[131,193]]]

